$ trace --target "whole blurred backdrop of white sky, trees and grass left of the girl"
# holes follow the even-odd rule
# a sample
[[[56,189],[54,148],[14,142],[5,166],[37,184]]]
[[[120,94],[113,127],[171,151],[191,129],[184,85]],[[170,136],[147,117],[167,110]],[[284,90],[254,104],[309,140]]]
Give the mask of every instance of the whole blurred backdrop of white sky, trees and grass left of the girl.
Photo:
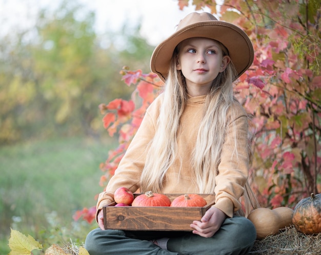
[[[103,190],[109,137],[98,105],[129,99],[124,65],[149,73],[155,45],[187,13],[175,0],[0,0],[0,254],[10,228],[44,248],[82,243],[73,221]]]

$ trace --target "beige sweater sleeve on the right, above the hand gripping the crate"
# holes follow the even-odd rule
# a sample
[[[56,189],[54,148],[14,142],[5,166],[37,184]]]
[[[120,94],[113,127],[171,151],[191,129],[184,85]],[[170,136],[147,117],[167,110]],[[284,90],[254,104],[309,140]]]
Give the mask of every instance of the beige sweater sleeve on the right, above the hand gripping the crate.
[[[244,193],[248,178],[248,121],[242,106],[235,119],[229,123],[222,148],[218,174],[215,177],[215,204],[228,217],[241,208],[239,198]],[[237,153],[235,150],[237,149]]]

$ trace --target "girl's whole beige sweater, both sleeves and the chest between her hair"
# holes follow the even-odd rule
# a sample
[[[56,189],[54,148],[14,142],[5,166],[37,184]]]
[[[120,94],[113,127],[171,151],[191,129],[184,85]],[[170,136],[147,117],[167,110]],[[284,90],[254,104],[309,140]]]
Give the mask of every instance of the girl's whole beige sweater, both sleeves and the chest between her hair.
[[[99,194],[97,212],[104,205],[113,201],[113,193],[119,187],[127,187],[135,192],[139,186],[139,177],[144,167],[146,146],[155,133],[156,120],[163,96],[158,96],[147,109],[141,126],[133,138],[126,154],[119,163],[114,176],[110,179],[106,192]],[[166,174],[166,183],[162,193],[198,193],[197,187],[191,181],[190,158],[196,141],[197,123],[202,118],[205,96],[190,98],[180,119],[181,127],[178,133],[178,155],[176,164]],[[218,175],[215,178],[215,204],[228,217],[239,210],[239,198],[243,195],[248,177],[248,122],[245,110],[239,103],[234,103],[237,116],[234,120],[237,130],[238,160],[232,157],[234,149],[233,129],[228,129],[226,141],[223,145]],[[231,124],[229,125],[231,127]],[[213,141],[215,142],[215,141]],[[182,169],[178,175],[178,167]],[[213,170],[214,171],[214,170]]]

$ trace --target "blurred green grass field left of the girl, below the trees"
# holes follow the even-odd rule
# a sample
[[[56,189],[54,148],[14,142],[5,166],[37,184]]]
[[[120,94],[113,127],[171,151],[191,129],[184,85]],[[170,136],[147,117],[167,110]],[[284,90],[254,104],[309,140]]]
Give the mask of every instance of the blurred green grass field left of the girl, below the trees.
[[[10,251],[10,227],[45,247],[84,242],[96,223],[73,222],[72,215],[96,204],[99,164],[112,148],[114,141],[78,137],[0,147],[0,254]]]

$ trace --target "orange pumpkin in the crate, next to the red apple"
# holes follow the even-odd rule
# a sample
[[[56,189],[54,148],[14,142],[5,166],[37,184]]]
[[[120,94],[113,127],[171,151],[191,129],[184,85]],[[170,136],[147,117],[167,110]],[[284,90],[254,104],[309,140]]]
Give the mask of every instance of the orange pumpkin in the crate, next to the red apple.
[[[132,206],[170,206],[171,200],[164,194],[147,191],[145,194],[135,197]]]

